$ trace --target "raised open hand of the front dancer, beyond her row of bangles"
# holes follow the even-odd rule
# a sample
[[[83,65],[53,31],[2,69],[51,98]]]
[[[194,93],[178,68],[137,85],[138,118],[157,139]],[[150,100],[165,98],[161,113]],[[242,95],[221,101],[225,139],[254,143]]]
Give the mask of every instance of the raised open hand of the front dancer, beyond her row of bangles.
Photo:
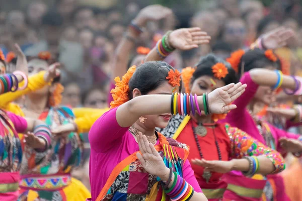
[[[234,100],[243,94],[246,84],[238,82],[216,88],[208,94],[208,106],[212,114],[225,114],[236,109],[236,105],[230,105]]]

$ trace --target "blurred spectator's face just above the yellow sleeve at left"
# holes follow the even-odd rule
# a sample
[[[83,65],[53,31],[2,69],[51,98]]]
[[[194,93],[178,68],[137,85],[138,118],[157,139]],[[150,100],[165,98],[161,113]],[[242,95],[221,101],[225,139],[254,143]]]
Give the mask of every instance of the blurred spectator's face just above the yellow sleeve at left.
[[[81,89],[75,82],[69,83],[64,87],[62,105],[77,108],[81,106]]]

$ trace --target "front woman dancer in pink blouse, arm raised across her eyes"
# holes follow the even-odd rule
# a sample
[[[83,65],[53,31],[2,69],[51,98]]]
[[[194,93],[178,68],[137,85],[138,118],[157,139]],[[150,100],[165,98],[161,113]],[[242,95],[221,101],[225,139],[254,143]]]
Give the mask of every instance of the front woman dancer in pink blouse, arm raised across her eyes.
[[[155,132],[155,127],[167,126],[171,109],[185,105],[176,95],[168,95],[180,91],[180,81],[180,73],[160,61],[145,62],[136,70],[133,66],[117,82],[113,109],[89,133],[92,200],[207,200],[186,160],[188,147]],[[208,94],[210,105],[205,108],[202,96],[192,96],[196,104],[191,110],[231,110],[235,106],[228,105],[244,87],[238,83],[218,88]]]

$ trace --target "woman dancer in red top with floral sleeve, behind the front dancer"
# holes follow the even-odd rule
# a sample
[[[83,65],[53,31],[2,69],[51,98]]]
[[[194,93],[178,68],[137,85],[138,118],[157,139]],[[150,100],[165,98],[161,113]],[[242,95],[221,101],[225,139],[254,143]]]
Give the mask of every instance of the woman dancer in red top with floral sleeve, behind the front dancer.
[[[158,58],[159,52],[152,51],[146,60]],[[222,87],[232,82],[237,82],[235,71],[230,64],[208,55],[203,58],[196,67],[196,70],[187,67],[182,72],[182,78],[186,93],[184,99],[189,93],[203,94],[210,92],[215,88]],[[245,132],[237,128],[232,128],[228,124],[214,123],[225,118],[226,115],[210,115],[200,117],[197,113],[183,117],[176,115],[172,117],[168,126],[159,131],[167,137],[173,137],[181,143],[190,146],[191,151],[188,159],[194,163],[194,170],[197,181],[206,197],[210,200],[221,200],[226,189],[227,183],[220,180],[222,173],[238,169],[248,171],[249,158],[240,159],[249,156],[259,156],[255,162],[259,161],[259,173],[269,174],[282,171],[284,161],[280,154],[265,147],[257,140],[251,138]],[[241,145],[239,145],[241,143]],[[253,149],[248,149],[254,144]],[[213,150],[213,147],[216,149]],[[198,160],[196,158],[201,158]],[[233,158],[233,160],[226,162]],[[209,162],[206,160],[219,160],[215,168],[200,167]],[[222,162],[224,161],[224,162]],[[214,161],[211,161],[214,162]],[[210,163],[211,163],[210,162]],[[253,163],[251,163],[253,164]],[[256,172],[253,172],[255,174]]]

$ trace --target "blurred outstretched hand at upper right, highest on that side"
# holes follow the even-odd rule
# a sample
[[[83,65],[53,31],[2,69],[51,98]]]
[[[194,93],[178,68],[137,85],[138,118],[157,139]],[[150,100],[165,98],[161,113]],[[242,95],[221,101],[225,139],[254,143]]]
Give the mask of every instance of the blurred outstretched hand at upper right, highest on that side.
[[[288,39],[294,37],[294,35],[295,34],[292,29],[279,27],[262,36],[263,45],[266,49],[284,47],[287,44]]]

